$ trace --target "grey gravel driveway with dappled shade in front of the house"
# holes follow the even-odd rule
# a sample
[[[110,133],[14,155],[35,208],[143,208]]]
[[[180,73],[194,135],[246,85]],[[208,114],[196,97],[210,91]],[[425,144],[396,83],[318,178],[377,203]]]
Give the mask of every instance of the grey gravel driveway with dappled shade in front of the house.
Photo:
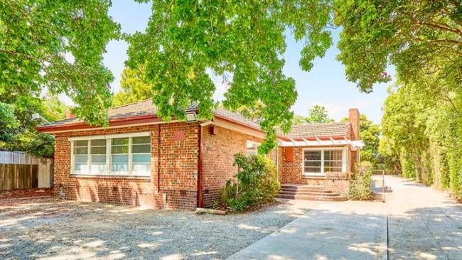
[[[0,259],[224,259],[305,212],[239,215],[34,200],[0,205]]]

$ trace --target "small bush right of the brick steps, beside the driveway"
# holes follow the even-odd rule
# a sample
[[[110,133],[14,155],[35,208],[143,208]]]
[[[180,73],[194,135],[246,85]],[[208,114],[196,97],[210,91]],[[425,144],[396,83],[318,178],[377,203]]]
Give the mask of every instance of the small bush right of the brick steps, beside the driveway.
[[[372,163],[368,161],[360,162],[353,173],[350,183],[351,200],[370,200],[372,198],[372,190],[370,188],[371,176]]]

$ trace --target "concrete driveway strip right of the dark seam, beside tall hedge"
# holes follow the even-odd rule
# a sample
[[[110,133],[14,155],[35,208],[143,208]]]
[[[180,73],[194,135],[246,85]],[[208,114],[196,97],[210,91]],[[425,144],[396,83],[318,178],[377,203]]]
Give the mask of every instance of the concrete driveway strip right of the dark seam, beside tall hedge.
[[[390,259],[462,259],[462,205],[411,180],[385,184]]]

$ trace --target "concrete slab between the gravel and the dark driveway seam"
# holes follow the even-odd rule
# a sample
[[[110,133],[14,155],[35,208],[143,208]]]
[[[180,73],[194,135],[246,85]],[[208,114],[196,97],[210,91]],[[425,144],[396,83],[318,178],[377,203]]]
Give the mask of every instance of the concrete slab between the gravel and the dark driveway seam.
[[[228,259],[382,259],[385,204],[292,201],[311,210]]]

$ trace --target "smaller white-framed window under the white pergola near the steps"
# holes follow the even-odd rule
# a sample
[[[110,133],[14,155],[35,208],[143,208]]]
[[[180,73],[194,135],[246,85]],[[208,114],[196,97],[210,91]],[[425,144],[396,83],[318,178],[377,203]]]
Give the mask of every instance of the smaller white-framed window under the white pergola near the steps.
[[[345,173],[345,171],[345,148],[303,148],[303,175],[326,175],[327,172]]]

